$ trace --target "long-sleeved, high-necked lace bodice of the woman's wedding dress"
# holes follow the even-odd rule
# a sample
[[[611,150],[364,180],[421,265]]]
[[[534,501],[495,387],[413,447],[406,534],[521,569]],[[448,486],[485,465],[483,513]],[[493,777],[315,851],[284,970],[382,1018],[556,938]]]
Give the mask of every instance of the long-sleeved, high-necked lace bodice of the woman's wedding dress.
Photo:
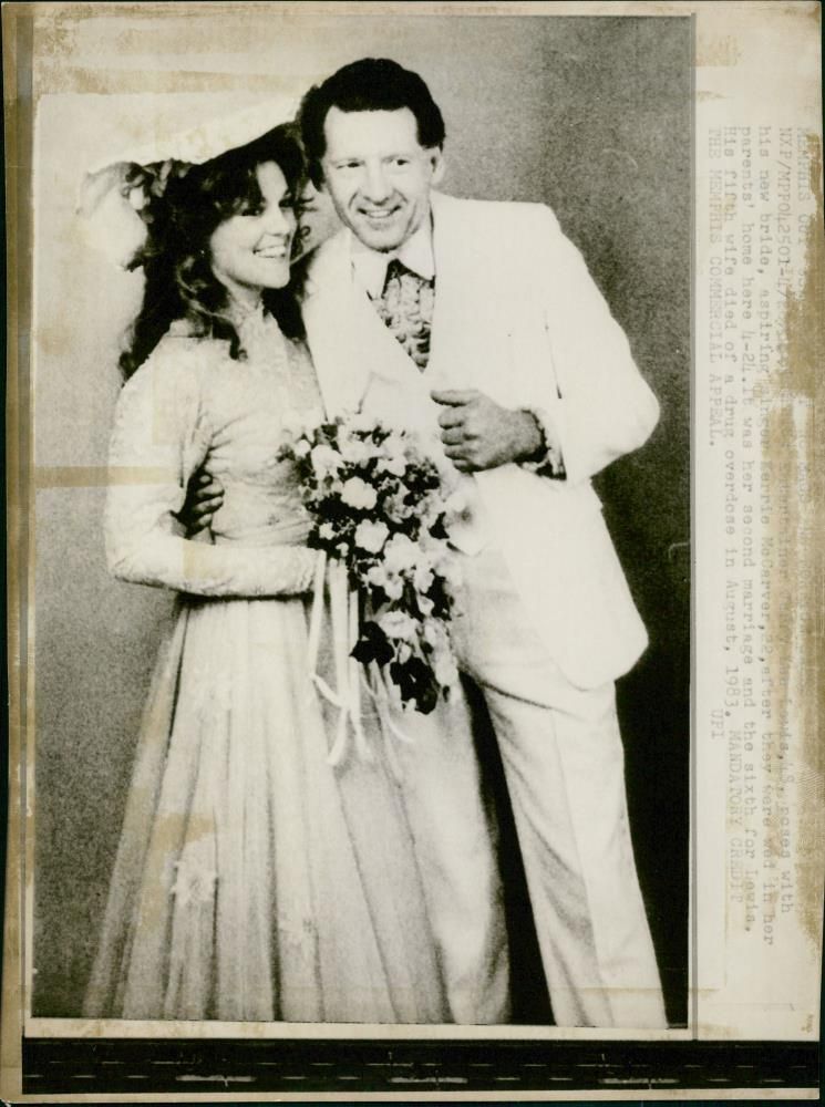
[[[123,387],[110,447],[106,550],[123,580],[213,597],[295,594],[312,578],[295,466],[277,459],[288,421],[321,402],[306,348],[270,315],[247,317],[245,356],[173,324]],[[224,486],[210,541],[177,513],[202,466]]]

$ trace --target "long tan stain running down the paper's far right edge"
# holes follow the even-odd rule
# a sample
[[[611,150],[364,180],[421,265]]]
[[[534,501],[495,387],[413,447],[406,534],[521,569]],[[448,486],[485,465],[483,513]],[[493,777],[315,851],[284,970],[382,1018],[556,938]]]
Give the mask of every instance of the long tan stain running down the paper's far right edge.
[[[816,135],[808,135],[806,144],[816,209],[805,217],[802,286],[786,292],[778,372],[770,390],[773,406],[767,416],[763,476],[769,501],[781,506],[771,513],[769,528],[772,549],[781,554],[771,577],[773,725],[767,756],[795,795],[795,804],[784,813],[793,820],[793,834],[788,835],[790,826],[783,824],[780,804],[763,815],[765,855],[777,865],[794,859],[796,918],[817,951],[825,851],[825,752],[819,730],[825,717],[825,686],[816,679],[825,625],[817,581],[825,572],[825,542],[822,525],[817,529],[817,524],[808,520],[821,518],[825,499],[825,448],[822,435],[816,434],[814,414],[817,401],[825,399],[821,375],[825,240],[822,146]]]

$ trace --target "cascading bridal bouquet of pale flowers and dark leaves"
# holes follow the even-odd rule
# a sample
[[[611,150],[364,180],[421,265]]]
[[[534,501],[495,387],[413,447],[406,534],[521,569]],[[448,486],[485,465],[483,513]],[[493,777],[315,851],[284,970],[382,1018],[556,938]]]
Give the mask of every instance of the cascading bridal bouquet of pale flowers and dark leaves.
[[[293,426],[279,452],[298,469],[309,545],[346,567],[358,597],[350,655],[388,674],[426,714],[458,673],[450,641],[455,569],[437,466],[402,431],[367,414]]]

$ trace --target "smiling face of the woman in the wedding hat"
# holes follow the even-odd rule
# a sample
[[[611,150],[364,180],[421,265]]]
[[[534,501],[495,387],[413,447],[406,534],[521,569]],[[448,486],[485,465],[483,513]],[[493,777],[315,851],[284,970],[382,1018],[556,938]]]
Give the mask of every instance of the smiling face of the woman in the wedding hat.
[[[255,303],[265,288],[289,282],[297,218],[293,197],[275,162],[256,169],[261,203],[225,219],[209,239],[212,269],[236,300]]]

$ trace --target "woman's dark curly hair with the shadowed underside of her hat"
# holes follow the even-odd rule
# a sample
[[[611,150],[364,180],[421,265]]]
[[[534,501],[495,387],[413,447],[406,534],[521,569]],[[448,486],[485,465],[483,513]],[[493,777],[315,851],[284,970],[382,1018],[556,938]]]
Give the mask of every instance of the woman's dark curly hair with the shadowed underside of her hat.
[[[194,334],[227,340],[231,358],[244,356],[228,314],[228,291],[213,272],[209,240],[226,219],[255,210],[262,203],[256,170],[266,162],[279,166],[296,214],[300,214],[307,173],[292,124],[274,127],[203,165],[165,162],[134,167],[126,189],[140,196],[140,215],[147,236],[130,266],[143,268],[145,284],[127,348],[120,359],[125,379],[143,364],[169,324],[178,319],[185,319]],[[298,238],[296,235],[293,246]],[[262,291],[264,306],[292,339],[305,335],[299,281],[293,277],[286,288]]]

